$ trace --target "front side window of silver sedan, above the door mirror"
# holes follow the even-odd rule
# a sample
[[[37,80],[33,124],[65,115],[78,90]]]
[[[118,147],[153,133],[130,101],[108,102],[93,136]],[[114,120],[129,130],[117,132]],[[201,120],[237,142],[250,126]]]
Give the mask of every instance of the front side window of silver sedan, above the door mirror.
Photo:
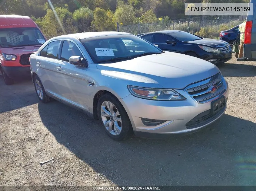
[[[69,62],[69,58],[71,56],[82,56],[80,50],[78,47],[70,42],[70,41],[64,41],[63,46],[62,46],[62,51],[61,51],[61,60]]]

